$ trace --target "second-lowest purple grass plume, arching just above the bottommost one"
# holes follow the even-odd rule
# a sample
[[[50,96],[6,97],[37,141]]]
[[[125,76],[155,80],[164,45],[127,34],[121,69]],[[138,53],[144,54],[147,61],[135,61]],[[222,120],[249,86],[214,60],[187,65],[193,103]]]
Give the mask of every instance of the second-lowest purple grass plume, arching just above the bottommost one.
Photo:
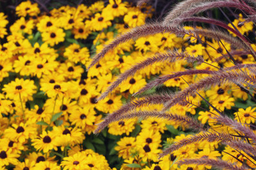
[[[232,141],[234,138],[230,136],[229,134],[225,133],[216,133],[216,132],[203,132],[202,134],[196,134],[195,136],[190,136],[188,138],[184,138],[180,140],[177,143],[174,143],[170,147],[163,150],[163,153],[159,155],[159,157],[164,157],[165,155],[168,155],[169,153],[172,153],[175,150],[179,150],[179,148],[182,148],[183,146],[191,145],[193,143],[198,143],[200,141]]]

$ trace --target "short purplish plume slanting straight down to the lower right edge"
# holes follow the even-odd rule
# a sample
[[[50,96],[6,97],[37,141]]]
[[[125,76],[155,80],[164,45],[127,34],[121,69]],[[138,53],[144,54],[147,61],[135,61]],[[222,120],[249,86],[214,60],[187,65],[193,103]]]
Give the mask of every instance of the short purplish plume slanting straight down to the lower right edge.
[[[225,115],[219,116],[219,117],[212,117],[212,118],[217,120],[221,124],[227,125],[229,127],[232,127],[233,129],[236,129],[237,131],[243,132],[243,134],[247,138],[251,138],[251,139],[253,139],[253,141],[256,142],[256,135],[255,135],[255,133],[250,128],[240,124],[236,120],[232,120],[231,118],[229,118],[229,117],[227,117]]]

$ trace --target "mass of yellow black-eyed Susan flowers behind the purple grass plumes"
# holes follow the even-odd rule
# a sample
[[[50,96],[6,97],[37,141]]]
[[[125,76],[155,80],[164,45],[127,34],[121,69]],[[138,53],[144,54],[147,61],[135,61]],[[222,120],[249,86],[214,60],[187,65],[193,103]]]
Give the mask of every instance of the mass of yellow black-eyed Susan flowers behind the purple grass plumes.
[[[111,45],[114,38],[144,25],[145,20],[152,17],[152,6],[134,7],[122,0],[109,0],[107,4],[97,1],[90,6],[61,6],[43,13],[38,4],[24,1],[15,11],[17,20],[10,26],[7,16],[0,13],[0,169],[211,169],[211,166],[175,164],[177,160],[191,157],[222,157],[232,163],[246,160],[251,167],[256,167],[247,153],[239,155],[230,147],[218,152],[221,150],[218,141],[196,143],[193,149],[186,146],[158,159],[161,148],[191,136],[188,125],[177,121],[156,117],[122,118],[111,122],[102,135],[92,134],[102,117],[120,111],[129,100],[132,104],[124,110],[134,106],[136,111],[145,113],[162,110],[163,104],[156,102],[148,106],[141,98],[132,96],[156,76],[186,71],[189,67],[216,71],[218,67],[233,66],[223,56],[239,46],[232,46],[227,39],[220,39],[220,43],[200,35],[202,44],[193,34],[180,37],[162,32],[117,45],[87,70],[94,53]],[[237,20],[233,22],[235,25],[244,21],[243,16],[239,15]],[[239,26],[240,29],[247,34],[253,24],[248,22]],[[198,30],[203,29],[198,27]],[[111,82],[117,81],[117,74],[127,73],[137,63],[147,64],[146,58],[166,50],[193,57],[184,60],[188,56],[179,56],[175,62],[165,59],[161,60],[164,64],[150,64],[125,78],[120,86],[112,89],[112,94],[97,100]],[[249,54],[234,57],[239,63],[253,63],[253,56]],[[184,74],[163,84],[166,90],[175,92],[205,76],[207,74]],[[157,90],[154,87],[151,92],[145,92],[143,99],[147,101],[147,95]],[[251,99],[245,90],[220,84],[200,94],[218,110],[228,111],[236,120],[255,127],[255,108],[243,104]],[[159,99],[164,97],[159,94],[156,100]],[[199,106],[209,107],[198,95],[190,96],[188,101],[190,105],[175,105],[167,114],[195,115],[202,124],[218,132],[236,134],[214,122],[216,111],[199,109]],[[239,110],[234,111],[236,108]],[[236,153],[237,159],[228,153]]]

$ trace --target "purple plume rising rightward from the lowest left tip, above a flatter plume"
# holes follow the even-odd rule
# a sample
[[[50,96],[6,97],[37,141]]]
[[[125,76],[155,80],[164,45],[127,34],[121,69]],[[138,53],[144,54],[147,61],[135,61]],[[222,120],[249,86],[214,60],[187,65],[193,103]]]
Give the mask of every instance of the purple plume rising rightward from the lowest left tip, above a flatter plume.
[[[94,131],[95,134],[99,133],[107,127],[111,122],[114,122],[114,120],[117,117],[120,117],[120,115],[123,115],[124,113],[127,113],[128,111],[135,110],[136,108],[140,108],[142,106],[147,106],[148,104],[159,104],[159,103],[165,103],[166,101],[172,99],[172,94],[164,93],[164,94],[157,94],[154,96],[145,96],[141,97],[140,99],[135,99],[134,101],[131,101],[130,103],[125,104],[120,109],[116,110],[114,113],[109,114],[106,118],[104,118],[103,122],[101,122],[97,129]]]

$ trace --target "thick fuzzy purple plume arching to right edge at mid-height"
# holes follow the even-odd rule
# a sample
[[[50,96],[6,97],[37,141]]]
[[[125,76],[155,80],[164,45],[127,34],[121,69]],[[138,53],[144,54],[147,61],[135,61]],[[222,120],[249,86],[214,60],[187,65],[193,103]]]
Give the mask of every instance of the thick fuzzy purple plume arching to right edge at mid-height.
[[[210,77],[204,78],[196,83],[189,85],[189,87],[187,87],[186,89],[177,92],[173,99],[165,104],[163,111],[168,110],[168,108],[171,108],[175,104],[182,103],[183,101],[185,101],[186,97],[194,95],[197,90],[205,89],[214,85],[219,85],[227,81],[230,83],[235,83],[236,85],[241,85],[241,87],[243,87],[244,82],[252,84],[256,83],[255,76],[251,74],[245,72],[220,71],[219,74],[214,74]]]

